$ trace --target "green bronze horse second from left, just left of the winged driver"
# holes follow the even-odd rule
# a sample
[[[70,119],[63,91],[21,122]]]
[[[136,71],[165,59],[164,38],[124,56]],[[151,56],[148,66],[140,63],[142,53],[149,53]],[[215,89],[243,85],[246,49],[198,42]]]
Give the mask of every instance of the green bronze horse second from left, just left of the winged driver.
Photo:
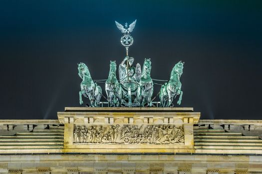
[[[108,79],[105,83],[105,90],[110,107],[119,107],[121,105],[122,87],[116,79],[116,62],[110,61],[110,70]]]

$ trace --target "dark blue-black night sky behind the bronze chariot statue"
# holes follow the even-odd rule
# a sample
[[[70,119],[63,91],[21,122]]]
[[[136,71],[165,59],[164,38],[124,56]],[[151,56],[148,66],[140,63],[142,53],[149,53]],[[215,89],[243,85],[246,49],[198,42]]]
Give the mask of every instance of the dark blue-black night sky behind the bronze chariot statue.
[[[125,56],[114,21],[137,19],[134,63],[151,58],[151,77],[167,80],[185,62],[181,106],[202,119],[262,119],[260,1],[0,0],[0,118],[56,119],[79,106],[77,63],[107,79],[110,60]]]

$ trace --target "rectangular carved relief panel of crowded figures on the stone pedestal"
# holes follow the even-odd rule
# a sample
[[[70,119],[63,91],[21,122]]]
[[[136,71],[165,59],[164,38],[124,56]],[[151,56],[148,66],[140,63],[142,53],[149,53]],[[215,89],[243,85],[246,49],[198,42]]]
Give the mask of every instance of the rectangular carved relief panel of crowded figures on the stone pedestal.
[[[164,125],[74,125],[74,144],[183,144],[184,129]]]

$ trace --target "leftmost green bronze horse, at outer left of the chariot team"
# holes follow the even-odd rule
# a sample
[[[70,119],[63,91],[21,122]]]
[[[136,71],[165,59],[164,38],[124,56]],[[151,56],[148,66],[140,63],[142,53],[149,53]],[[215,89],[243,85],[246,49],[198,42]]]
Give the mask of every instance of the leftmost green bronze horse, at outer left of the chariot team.
[[[82,95],[90,99],[91,107],[98,107],[102,96],[102,88],[94,83],[89,70],[84,63],[78,64],[78,76],[82,79],[79,91],[79,101],[83,104]]]

